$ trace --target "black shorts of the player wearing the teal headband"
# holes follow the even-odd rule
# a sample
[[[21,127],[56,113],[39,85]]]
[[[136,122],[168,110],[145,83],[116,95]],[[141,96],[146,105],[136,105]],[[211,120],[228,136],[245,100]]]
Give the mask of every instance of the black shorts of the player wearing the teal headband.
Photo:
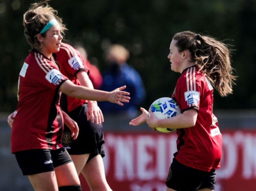
[[[65,148],[57,150],[32,149],[14,154],[23,175],[54,171],[55,167],[72,162]]]

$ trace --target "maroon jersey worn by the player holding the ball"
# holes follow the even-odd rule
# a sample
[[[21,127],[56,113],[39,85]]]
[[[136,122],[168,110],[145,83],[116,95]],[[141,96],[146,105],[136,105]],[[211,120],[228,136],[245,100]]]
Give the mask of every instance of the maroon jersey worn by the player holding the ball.
[[[184,70],[179,77],[173,98],[182,112],[198,110],[194,127],[177,129],[178,152],[174,154],[180,163],[210,171],[220,167],[222,135],[213,109],[213,87],[196,66]]]

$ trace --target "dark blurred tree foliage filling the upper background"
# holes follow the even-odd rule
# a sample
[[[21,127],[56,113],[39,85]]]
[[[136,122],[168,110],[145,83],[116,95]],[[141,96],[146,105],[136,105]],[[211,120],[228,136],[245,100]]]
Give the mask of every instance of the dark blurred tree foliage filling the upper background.
[[[20,68],[29,53],[22,26],[32,0],[0,0],[0,112],[15,110]],[[167,59],[174,33],[191,30],[233,46],[234,94],[220,97],[215,108],[256,107],[256,0],[52,0],[69,31],[65,41],[85,46],[89,60],[101,71],[104,50],[120,43],[130,50],[129,63],[144,80],[148,108],[155,99],[171,96],[178,73]],[[240,101],[241,102],[240,102]],[[237,105],[237,101],[242,104]]]

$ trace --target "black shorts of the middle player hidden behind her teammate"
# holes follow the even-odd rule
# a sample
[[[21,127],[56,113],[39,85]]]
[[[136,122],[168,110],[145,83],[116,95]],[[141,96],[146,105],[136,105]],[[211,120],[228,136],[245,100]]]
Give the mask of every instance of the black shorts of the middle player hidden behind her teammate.
[[[98,154],[105,156],[104,151],[104,135],[102,124],[92,123],[87,121],[86,112],[88,109],[87,103],[77,107],[72,112],[67,114],[72,118],[79,127],[79,134],[76,140],[73,140],[70,134],[70,129],[65,125],[62,144],[67,149],[69,154],[90,154],[87,162]]]

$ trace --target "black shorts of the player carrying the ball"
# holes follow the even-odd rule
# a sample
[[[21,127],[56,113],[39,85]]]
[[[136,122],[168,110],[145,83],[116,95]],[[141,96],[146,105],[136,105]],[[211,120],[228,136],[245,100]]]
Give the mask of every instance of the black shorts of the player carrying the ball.
[[[203,188],[215,189],[215,183],[216,171],[214,169],[210,172],[200,171],[181,164],[175,158],[171,163],[165,182],[167,187],[179,191],[196,191]]]

